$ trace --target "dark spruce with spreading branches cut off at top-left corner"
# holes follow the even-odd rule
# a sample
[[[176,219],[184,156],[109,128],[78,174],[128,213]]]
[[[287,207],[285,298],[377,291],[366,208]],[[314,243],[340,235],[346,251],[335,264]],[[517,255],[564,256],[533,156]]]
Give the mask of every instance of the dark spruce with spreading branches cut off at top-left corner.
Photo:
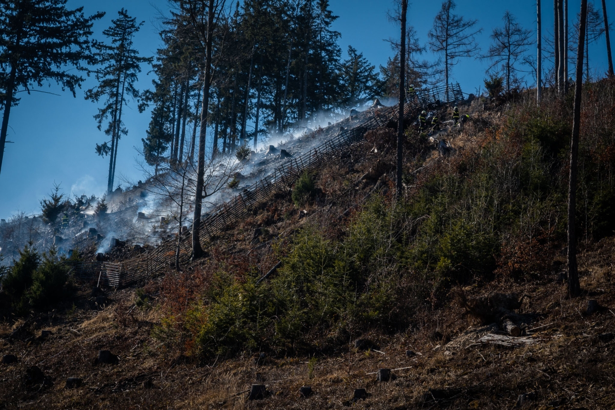
[[[92,24],[105,15],[85,17],[83,7],[70,10],[66,0],[4,0],[0,2],[0,170],[9,128],[10,109],[18,92],[56,82],[73,97],[84,78],[70,71],[93,62]],[[20,90],[23,88],[23,90]]]

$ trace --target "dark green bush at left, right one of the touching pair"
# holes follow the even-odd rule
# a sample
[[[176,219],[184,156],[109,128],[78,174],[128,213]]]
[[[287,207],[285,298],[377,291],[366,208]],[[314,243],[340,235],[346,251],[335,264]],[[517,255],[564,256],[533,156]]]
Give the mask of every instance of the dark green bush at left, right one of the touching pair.
[[[66,294],[68,267],[58,258],[58,252],[51,248],[43,253],[42,263],[34,271],[32,286],[28,290],[28,299],[36,307],[47,306],[61,301]]]

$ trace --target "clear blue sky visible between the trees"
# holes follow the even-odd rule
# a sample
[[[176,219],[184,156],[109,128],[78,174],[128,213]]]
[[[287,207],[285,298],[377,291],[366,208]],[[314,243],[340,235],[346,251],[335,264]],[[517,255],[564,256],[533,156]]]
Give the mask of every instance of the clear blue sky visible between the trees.
[[[547,38],[553,31],[553,3],[542,3],[542,33],[543,38]],[[415,27],[421,43],[427,41],[427,31],[440,10],[440,4],[440,1],[410,4],[408,24]],[[580,4],[580,0],[570,1],[571,23],[576,18]],[[153,56],[159,47],[158,17],[160,12],[168,10],[165,0],[68,0],[68,6],[84,6],[86,14],[98,10],[107,12],[105,18],[95,24],[97,38],[101,38],[101,32],[109,25],[111,18],[116,18],[117,10],[125,7],[130,15],[145,21],[135,37],[135,47],[141,55],[146,56]],[[371,64],[376,67],[384,65],[387,58],[392,56],[392,50],[383,40],[399,36],[399,28],[387,20],[387,10],[392,7],[392,1],[330,0],[330,6],[333,13],[339,16],[333,28],[342,34],[339,40],[341,49],[345,52],[347,46],[352,45]],[[601,9],[599,0],[595,0],[595,6]],[[615,2],[607,1],[607,8],[609,22],[615,22]],[[478,27],[483,28],[483,33],[477,39],[485,52],[490,44],[491,31],[501,25],[506,10],[514,14],[521,25],[535,32],[534,0],[458,0],[456,13],[478,20]],[[611,31],[611,44],[614,43],[615,33]],[[595,73],[606,71],[605,51],[604,37],[590,45],[590,65]],[[535,53],[535,49],[531,52]],[[426,58],[434,57],[428,53]],[[487,67],[487,61],[464,59],[454,66],[451,77],[461,84],[465,92],[475,92],[483,85]],[[144,67],[137,84],[138,89],[146,89],[151,84],[152,76],[148,76],[147,71],[148,68]],[[528,79],[528,83],[533,84],[533,80]],[[82,89],[77,91],[77,98],[68,92],[62,93],[55,85],[42,90],[59,93],[60,96],[36,92],[31,95],[20,94],[22,101],[12,109],[7,136],[7,140],[14,143],[7,144],[0,173],[0,218],[9,218],[17,211],[39,213],[39,201],[49,194],[54,181],[61,183],[62,192],[71,194],[71,197],[105,192],[108,159],[98,157],[94,147],[96,143],[106,141],[106,136],[98,131],[92,117],[97,112],[97,105],[83,98],[84,90],[94,84],[93,79],[85,81]],[[116,172],[137,180],[141,175],[135,167],[135,158],[138,156],[135,148],[141,146],[141,138],[145,137],[149,113],[139,114],[136,104],[132,103],[123,115],[129,135],[120,140]]]

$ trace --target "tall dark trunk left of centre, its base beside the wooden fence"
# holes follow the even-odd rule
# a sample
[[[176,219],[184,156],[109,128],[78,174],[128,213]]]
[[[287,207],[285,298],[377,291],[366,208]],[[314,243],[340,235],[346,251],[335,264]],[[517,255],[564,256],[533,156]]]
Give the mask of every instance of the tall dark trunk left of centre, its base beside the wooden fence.
[[[194,195],[194,218],[192,223],[192,259],[203,255],[200,246],[200,214],[203,201],[203,184],[205,179],[205,137],[207,136],[207,111],[209,106],[209,87],[212,74],[212,37],[214,0],[209,0],[207,9],[207,40],[205,42],[205,79],[203,84],[203,105],[200,112],[199,158],[196,177],[196,195]]]

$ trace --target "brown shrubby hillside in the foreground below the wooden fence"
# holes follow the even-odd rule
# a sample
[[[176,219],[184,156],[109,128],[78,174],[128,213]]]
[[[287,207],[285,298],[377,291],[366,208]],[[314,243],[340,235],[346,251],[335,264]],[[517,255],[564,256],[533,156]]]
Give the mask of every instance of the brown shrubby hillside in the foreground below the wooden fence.
[[[23,317],[0,294],[0,352],[17,358],[0,364],[0,407],[613,408],[614,97],[612,80],[584,95],[580,298],[563,283],[571,101],[475,100],[434,141],[408,124],[400,201],[381,127],[181,272],[75,283]]]

